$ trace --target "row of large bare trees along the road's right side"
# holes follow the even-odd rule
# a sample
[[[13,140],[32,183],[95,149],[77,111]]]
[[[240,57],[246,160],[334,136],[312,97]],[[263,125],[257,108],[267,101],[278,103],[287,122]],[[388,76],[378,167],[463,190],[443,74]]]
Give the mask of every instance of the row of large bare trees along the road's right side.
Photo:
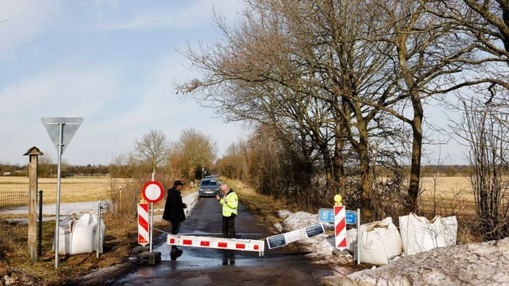
[[[179,89],[256,127],[223,173],[305,201],[342,190],[376,216],[380,198],[418,211],[425,110],[507,111],[508,23],[505,0],[246,0],[235,25],[217,18],[223,39],[184,51],[203,77]]]

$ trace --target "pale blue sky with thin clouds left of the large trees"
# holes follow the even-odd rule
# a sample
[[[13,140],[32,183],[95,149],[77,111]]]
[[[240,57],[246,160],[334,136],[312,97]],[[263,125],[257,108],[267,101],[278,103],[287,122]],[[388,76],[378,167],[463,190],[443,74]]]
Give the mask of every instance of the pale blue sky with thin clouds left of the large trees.
[[[177,49],[219,38],[214,12],[235,21],[236,0],[0,0],[0,162],[26,164],[32,146],[56,160],[42,117],[80,117],[63,153],[70,164],[108,164],[151,129],[176,141],[197,129],[219,155],[247,134],[175,83],[197,78]]]

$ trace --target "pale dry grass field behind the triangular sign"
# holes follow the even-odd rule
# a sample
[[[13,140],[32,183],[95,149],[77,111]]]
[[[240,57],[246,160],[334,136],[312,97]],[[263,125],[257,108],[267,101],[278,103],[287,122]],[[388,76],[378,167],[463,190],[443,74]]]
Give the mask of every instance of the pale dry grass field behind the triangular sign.
[[[44,203],[56,201],[56,179],[39,178]],[[100,201],[109,199],[109,177],[70,177],[61,180],[61,202]],[[0,192],[28,192],[28,177],[0,177]]]

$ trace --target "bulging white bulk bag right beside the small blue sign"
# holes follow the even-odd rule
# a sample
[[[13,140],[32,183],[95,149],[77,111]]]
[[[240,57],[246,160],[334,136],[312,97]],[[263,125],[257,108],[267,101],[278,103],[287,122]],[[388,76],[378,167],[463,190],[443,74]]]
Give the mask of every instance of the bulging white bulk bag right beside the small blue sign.
[[[402,253],[400,232],[391,217],[360,225],[360,262],[387,264]]]

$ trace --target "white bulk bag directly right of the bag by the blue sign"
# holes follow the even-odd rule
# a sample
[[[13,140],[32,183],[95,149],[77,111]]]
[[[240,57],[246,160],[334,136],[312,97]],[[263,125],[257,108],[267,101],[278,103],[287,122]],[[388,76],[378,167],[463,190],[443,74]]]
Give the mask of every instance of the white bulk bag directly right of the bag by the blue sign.
[[[411,212],[409,215],[400,217],[400,232],[403,252],[407,255],[446,246],[439,216],[429,221]]]

